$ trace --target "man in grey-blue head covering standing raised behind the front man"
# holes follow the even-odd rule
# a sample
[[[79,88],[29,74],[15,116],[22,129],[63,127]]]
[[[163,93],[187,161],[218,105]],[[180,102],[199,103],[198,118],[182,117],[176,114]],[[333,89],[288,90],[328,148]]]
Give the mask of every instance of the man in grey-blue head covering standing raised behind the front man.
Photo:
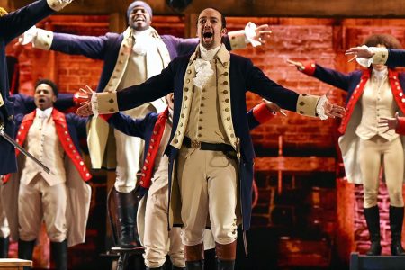
[[[97,92],[116,92],[130,85],[139,85],[155,76],[168,65],[171,59],[193,52],[198,39],[179,39],[174,36],[160,36],[151,26],[152,9],[143,1],[134,1],[127,10],[129,27],[121,34],[107,33],[101,37],[76,36],[37,30],[33,45],[39,49],[51,49],[71,55],[103,60],[103,72]],[[257,36],[266,25],[257,27]],[[266,31],[262,32],[266,34]],[[228,38],[229,37],[229,38]],[[245,34],[229,33],[225,39],[229,49],[246,46]],[[162,112],[166,107],[163,99],[157,98],[142,104],[136,109],[124,112],[134,118],[148,112]],[[108,124],[93,118],[90,122],[87,139],[92,166],[95,169],[115,168],[115,189],[118,192],[118,214],[121,223],[121,247],[136,245],[133,234],[135,225],[134,210],[124,206],[135,188],[136,174],[142,166],[144,142],[129,137]]]

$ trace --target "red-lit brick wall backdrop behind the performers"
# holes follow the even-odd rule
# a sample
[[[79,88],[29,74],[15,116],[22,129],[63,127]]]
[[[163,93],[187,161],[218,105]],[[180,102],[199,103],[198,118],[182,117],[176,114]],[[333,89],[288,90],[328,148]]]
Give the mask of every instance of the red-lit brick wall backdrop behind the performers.
[[[286,60],[315,60],[322,66],[349,72],[355,70],[356,63],[347,63],[344,50],[361,44],[369,34],[392,33],[402,43],[405,40],[405,21],[402,20],[228,18],[229,31],[241,29],[249,21],[268,23],[273,31],[272,38],[264,46],[235,53],[251,58],[281,85],[299,93],[329,93],[329,99],[339,104],[344,103],[344,92],[302,75]],[[40,26],[52,31],[103,35],[108,31],[108,22],[108,16],[57,15]],[[154,16],[154,26],[160,33],[177,36],[184,33],[182,17]],[[32,94],[32,85],[40,77],[55,80],[61,92],[74,93],[84,85],[95,87],[103,65],[100,60],[30,46],[10,45],[7,52],[19,58],[20,91],[24,94]],[[249,108],[259,102],[256,94],[247,94]],[[252,132],[258,156],[258,198],[253,211],[253,228],[277,231],[277,248],[286,254],[276,258],[279,266],[286,262],[328,266],[334,247],[337,247],[338,257],[347,261],[350,251],[365,251],[368,236],[362,211],[362,188],[341,180],[344,175],[336,144],[338,121],[318,121],[293,112],[287,114],[288,117],[276,117]],[[385,185],[382,185],[379,200],[383,209],[383,252],[387,253],[389,204]],[[310,237],[302,238],[293,233],[292,228],[299,228]],[[296,247],[301,253],[294,253],[294,248],[290,247]],[[328,249],[326,254],[322,248]]]

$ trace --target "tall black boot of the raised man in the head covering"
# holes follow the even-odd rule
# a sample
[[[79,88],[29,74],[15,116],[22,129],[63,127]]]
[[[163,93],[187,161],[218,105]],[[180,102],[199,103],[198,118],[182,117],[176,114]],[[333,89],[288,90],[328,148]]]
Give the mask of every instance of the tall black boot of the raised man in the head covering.
[[[120,247],[139,247],[136,235],[136,203],[133,193],[119,193],[115,191],[118,220],[120,222]]]

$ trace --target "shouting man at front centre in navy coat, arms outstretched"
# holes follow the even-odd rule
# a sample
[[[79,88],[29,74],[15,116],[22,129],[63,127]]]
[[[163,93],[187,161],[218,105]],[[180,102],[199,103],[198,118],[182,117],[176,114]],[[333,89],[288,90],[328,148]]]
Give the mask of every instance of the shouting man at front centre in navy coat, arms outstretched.
[[[322,119],[345,110],[326,97],[297,94],[277,85],[252,62],[230,54],[221,44],[226,21],[208,8],[198,17],[200,44],[193,53],[175,58],[162,73],[144,84],[117,93],[92,94],[82,115],[128,110],[175,94],[169,156],[169,223],[184,227],[187,269],[202,269],[202,239],[211,225],[219,269],[233,269],[237,226],[250,227],[253,159],[246,116],[246,92],[259,94],[280,107]],[[98,107],[98,108],[96,108]],[[211,223],[211,224],[210,224]]]

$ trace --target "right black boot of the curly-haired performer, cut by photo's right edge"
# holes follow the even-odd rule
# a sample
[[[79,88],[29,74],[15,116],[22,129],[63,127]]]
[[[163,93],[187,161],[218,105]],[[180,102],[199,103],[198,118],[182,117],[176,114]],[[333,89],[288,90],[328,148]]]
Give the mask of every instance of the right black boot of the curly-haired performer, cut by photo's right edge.
[[[405,250],[401,245],[403,210],[403,207],[390,206],[391,254],[393,256],[405,256]]]

